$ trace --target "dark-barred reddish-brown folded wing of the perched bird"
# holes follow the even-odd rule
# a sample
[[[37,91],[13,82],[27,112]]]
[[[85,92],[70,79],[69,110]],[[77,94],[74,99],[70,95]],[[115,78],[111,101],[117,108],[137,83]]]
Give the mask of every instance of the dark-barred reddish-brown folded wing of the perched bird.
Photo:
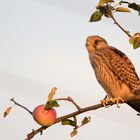
[[[140,89],[139,77],[129,58],[114,47],[108,47],[107,52],[110,68],[117,77],[127,84],[133,92]]]

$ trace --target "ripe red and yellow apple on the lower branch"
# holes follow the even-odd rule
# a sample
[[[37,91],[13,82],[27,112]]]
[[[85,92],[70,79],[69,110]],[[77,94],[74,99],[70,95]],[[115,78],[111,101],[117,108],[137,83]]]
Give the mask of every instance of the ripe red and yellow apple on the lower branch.
[[[41,126],[50,126],[56,120],[56,111],[55,109],[45,109],[45,105],[39,105],[33,110],[34,120]]]

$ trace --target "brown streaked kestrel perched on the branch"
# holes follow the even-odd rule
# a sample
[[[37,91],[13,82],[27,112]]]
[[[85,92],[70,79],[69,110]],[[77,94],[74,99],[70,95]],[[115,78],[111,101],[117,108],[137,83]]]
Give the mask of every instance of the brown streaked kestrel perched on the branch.
[[[103,105],[109,100],[118,104],[140,91],[140,79],[133,64],[123,52],[109,46],[104,38],[97,35],[87,38],[86,48],[95,76],[107,93]],[[127,104],[140,112],[140,100],[132,100]]]

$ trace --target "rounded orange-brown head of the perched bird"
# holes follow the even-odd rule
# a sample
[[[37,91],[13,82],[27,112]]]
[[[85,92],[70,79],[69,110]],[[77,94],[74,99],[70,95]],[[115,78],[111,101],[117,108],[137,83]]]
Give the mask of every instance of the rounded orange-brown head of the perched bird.
[[[107,41],[100,36],[93,35],[93,36],[87,37],[86,48],[89,53],[94,52],[98,49],[104,48],[106,46],[108,46]]]

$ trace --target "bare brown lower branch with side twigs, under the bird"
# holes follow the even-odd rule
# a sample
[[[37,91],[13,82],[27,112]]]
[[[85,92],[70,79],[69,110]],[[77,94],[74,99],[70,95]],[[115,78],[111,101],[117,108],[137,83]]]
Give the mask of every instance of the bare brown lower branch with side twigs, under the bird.
[[[88,112],[88,111],[91,111],[91,110],[96,110],[96,109],[99,109],[99,108],[101,108],[101,107],[104,107],[104,106],[102,105],[102,103],[99,103],[99,104],[95,104],[95,105],[91,105],[91,106],[88,106],[88,107],[81,108],[71,97],[67,97],[67,98],[58,98],[58,99],[54,99],[54,100],[57,100],[57,101],[69,101],[69,102],[71,102],[71,103],[77,108],[77,111],[75,111],[75,112],[73,112],[73,113],[70,113],[70,114],[67,114],[67,115],[58,117],[58,118],[56,119],[55,123],[54,123],[54,124],[57,124],[57,123],[59,123],[59,122],[65,120],[65,119],[74,118],[74,122],[75,122],[75,124],[76,124],[76,126],[75,126],[74,129],[77,128],[77,118],[76,118],[76,116],[78,116],[78,115],[80,115],[80,114],[82,114],[82,113],[84,113],[84,112]],[[135,96],[132,96],[132,97],[130,97],[130,98],[125,98],[125,99],[124,99],[124,102],[127,103],[128,101],[131,101],[131,100],[140,100],[140,95],[135,95]],[[15,105],[17,105],[17,106],[19,106],[19,107],[25,109],[27,112],[29,112],[29,113],[32,115],[32,112],[31,112],[29,109],[27,109],[25,106],[23,106],[23,105],[17,103],[17,102],[14,100],[14,98],[10,99],[10,101],[12,101]],[[108,103],[108,105],[113,105],[113,104],[114,104],[114,103],[113,103],[112,101],[110,101],[110,102]],[[53,125],[54,125],[54,124],[53,124]],[[42,127],[38,128],[38,129],[36,129],[36,130],[32,130],[32,132],[29,133],[29,134],[27,135],[27,138],[26,138],[25,140],[31,140],[31,139],[32,139],[35,135],[37,135],[38,133],[42,134],[42,132],[43,132],[44,130],[46,130],[47,128],[48,128],[48,127],[42,126]]]

